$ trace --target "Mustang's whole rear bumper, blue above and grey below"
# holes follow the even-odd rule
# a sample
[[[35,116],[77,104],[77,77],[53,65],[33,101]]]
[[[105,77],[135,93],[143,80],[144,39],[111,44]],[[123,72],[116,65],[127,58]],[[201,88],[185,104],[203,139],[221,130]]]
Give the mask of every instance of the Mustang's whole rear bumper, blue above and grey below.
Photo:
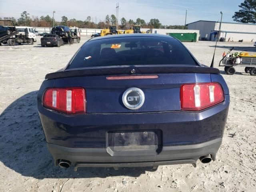
[[[184,163],[195,166],[198,158],[208,154],[215,160],[226,125],[228,106],[229,95],[225,95],[224,102],[200,112],[69,116],[44,108],[42,101],[38,100],[40,120],[55,164],[60,159],[68,160],[75,168]],[[143,143],[131,147],[120,145],[119,138],[114,142],[109,139],[112,132],[138,131],[157,133],[156,146]],[[125,138],[126,141],[132,137]]]

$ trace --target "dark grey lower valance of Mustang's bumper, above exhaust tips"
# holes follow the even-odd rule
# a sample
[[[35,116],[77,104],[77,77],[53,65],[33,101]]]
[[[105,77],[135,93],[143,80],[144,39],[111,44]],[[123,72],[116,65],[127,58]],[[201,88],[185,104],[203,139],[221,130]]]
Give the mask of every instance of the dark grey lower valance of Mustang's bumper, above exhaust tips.
[[[192,164],[196,167],[196,161],[204,155],[210,154],[215,160],[220,148],[222,138],[208,142],[181,145],[164,146],[156,155],[147,155],[145,150],[126,150],[122,153],[112,153],[109,148],[67,148],[54,144],[47,147],[54,158],[55,165],[59,160],[68,160],[76,170],[78,167],[134,167],[134,166],[160,166],[171,164]]]

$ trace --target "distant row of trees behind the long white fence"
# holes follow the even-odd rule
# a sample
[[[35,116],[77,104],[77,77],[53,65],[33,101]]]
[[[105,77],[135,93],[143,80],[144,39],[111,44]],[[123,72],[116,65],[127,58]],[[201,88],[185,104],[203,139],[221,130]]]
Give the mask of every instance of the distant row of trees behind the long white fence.
[[[1,19],[1,18],[0,18]],[[46,16],[30,16],[30,14],[26,11],[20,14],[20,18],[16,20],[14,17],[4,17],[4,20],[12,20],[15,25],[17,26],[33,26],[33,27],[52,27],[53,26],[53,18],[49,15]],[[54,25],[65,25],[65,26],[76,26],[78,28],[97,28],[97,29],[104,29],[108,28],[109,25],[116,25],[116,16],[106,15],[104,21],[97,22],[93,21],[91,16],[87,16],[84,21],[68,19],[66,16],[61,17],[61,22],[58,22],[54,19]],[[10,25],[6,22],[1,22],[2,25]],[[150,19],[149,22],[146,22],[144,19],[137,18],[136,20],[126,20],[126,18],[122,17],[120,21],[118,21],[118,28],[119,29],[130,29],[133,25],[140,25],[142,28],[166,28],[166,29],[184,29],[184,26],[180,25],[162,25],[160,21],[156,18]]]

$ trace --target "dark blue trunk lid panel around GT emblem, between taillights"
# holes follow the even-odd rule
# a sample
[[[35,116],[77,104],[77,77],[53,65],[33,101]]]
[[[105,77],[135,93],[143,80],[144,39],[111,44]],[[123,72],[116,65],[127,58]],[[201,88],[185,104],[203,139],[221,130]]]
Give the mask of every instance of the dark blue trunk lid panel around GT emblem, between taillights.
[[[198,68],[198,72],[203,72]],[[210,68],[207,68],[210,69]],[[113,69],[114,70],[114,69]],[[120,69],[119,69],[120,70]],[[140,71],[140,74],[125,74]],[[155,68],[157,71],[157,68]],[[170,69],[173,70],[174,69]],[[166,73],[158,69],[158,73],[146,73],[145,68],[122,68],[121,75],[97,75],[99,71],[91,70],[88,75],[70,76],[70,71],[56,72],[55,76],[63,76],[55,79],[55,87],[83,87],[86,90],[87,113],[129,113],[129,112],[162,112],[180,110],[180,86],[185,83],[211,82],[210,73],[175,72]],[[151,70],[148,69],[147,72]],[[162,71],[162,73],[160,73]],[[82,72],[82,71],[80,71]],[[88,72],[88,71],[87,71]],[[206,72],[206,71],[205,71]],[[208,71],[210,72],[210,70]],[[71,73],[74,73],[72,70]],[[85,71],[84,71],[85,73]],[[104,73],[104,70],[100,70]],[[66,75],[66,77],[64,77]],[[154,76],[154,78],[138,78],[138,76]],[[53,77],[48,75],[48,77]],[[124,78],[125,77],[125,78]],[[129,79],[127,79],[127,77]],[[113,80],[117,79],[117,80]],[[139,88],[145,96],[144,104],[131,110],[122,101],[124,92],[129,88]]]

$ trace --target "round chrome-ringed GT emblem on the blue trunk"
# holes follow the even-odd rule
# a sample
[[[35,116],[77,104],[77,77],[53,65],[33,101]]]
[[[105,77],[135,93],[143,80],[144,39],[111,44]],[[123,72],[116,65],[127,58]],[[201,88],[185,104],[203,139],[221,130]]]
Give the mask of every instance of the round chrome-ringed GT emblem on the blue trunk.
[[[144,100],[144,92],[136,87],[127,89],[122,96],[124,106],[131,110],[140,108],[144,104]]]

